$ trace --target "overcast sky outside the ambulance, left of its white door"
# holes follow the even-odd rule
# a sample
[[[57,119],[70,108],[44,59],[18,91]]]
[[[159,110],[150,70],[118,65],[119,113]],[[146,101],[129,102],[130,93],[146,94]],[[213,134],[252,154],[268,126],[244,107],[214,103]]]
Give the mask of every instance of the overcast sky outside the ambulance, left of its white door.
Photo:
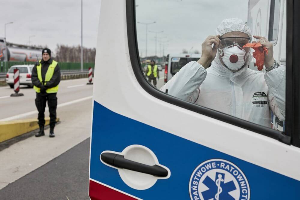
[[[0,37],[17,44],[80,44],[80,0],[10,0],[1,4]],[[83,46],[96,47],[101,0],[83,0]]]

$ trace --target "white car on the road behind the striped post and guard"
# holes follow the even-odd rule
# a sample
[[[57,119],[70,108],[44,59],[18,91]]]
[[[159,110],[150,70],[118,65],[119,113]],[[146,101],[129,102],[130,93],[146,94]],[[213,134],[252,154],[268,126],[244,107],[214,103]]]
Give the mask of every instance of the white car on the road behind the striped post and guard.
[[[20,85],[27,85],[29,87],[32,87],[32,81],[31,81],[31,72],[34,65],[13,65],[9,68],[7,74],[6,74],[6,83],[10,86],[10,88],[13,88],[13,70],[19,69],[20,75]]]

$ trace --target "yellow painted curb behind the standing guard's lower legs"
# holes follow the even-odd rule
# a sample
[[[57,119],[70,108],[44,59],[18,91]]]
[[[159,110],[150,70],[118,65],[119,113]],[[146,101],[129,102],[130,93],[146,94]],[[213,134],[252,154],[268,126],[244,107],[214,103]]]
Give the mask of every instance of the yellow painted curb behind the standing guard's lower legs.
[[[56,119],[59,121],[59,118]],[[50,122],[50,118],[45,118],[45,126]],[[0,142],[9,140],[16,136],[28,133],[35,129],[38,129],[37,119],[26,119],[26,120],[13,120],[7,122],[0,122]]]

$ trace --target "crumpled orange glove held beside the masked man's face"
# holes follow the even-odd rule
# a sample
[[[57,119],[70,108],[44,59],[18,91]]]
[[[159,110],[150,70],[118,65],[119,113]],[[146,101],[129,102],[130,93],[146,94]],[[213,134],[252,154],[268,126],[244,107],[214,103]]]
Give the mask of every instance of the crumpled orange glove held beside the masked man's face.
[[[253,48],[255,51],[253,52],[253,57],[256,59],[255,65],[259,71],[262,71],[263,63],[265,59],[265,54],[268,54],[268,49],[266,47],[262,47],[262,45],[258,43],[248,43],[243,46]]]

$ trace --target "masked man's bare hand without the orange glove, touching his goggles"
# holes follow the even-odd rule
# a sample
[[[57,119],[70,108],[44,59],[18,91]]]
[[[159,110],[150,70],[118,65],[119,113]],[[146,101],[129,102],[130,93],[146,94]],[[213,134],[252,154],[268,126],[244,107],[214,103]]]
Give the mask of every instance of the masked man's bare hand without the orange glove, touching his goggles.
[[[216,57],[218,47],[220,46],[221,40],[220,35],[210,35],[202,43],[202,54],[201,58],[197,61],[205,69],[208,68],[211,61]],[[211,45],[214,44],[213,47]]]

